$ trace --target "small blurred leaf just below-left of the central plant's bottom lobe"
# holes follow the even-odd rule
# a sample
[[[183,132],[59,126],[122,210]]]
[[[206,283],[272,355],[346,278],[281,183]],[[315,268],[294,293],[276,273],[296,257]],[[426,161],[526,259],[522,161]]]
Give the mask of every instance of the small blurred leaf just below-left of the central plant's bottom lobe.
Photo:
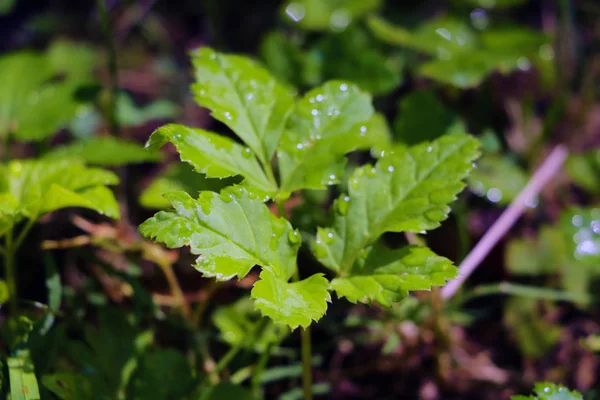
[[[271,343],[278,343],[288,333],[282,326],[261,321],[252,300],[243,297],[234,304],[220,307],[212,315],[213,324],[220,332],[221,339],[232,347],[240,346],[265,351]]]

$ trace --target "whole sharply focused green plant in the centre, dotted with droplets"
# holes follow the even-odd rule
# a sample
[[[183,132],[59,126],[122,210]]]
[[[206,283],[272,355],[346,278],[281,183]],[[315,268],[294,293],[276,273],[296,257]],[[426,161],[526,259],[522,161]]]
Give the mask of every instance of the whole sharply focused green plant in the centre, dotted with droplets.
[[[173,209],[145,221],[144,236],[170,248],[190,246],[198,255],[194,268],[217,280],[241,279],[260,266],[251,292],[254,306],[292,329],[318,321],[331,291],[351,302],[389,306],[411,290],[440,286],[455,276],[452,263],[426,247],[391,249],[380,239],[386,232],[433,229],[446,219],[478,155],[475,139],[453,134],[414,147],[393,146],[371,97],[352,83],[329,81],[298,96],[248,58],[209,48],[192,57],[196,100],[247,147],[182,125],[159,128],[147,146],[169,141],[207,178],[239,175],[243,181],[219,193],[201,191],[197,198],[182,191],[165,194]],[[302,236],[284,218],[285,201],[302,189],[340,183],[345,155],[360,149],[371,149],[379,159],[354,170],[348,193],[334,202],[331,226],[319,228],[309,243],[335,277],[330,281],[317,273],[300,279]],[[271,200],[279,217],[265,204]],[[303,332],[303,362],[310,365]]]

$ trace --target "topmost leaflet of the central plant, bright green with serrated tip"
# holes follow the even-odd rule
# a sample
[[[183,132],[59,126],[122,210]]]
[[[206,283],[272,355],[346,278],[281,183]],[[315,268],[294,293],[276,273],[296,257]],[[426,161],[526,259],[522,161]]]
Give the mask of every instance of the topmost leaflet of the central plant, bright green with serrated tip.
[[[294,106],[294,92],[255,61],[203,47],[192,54],[196,101],[267,164]]]

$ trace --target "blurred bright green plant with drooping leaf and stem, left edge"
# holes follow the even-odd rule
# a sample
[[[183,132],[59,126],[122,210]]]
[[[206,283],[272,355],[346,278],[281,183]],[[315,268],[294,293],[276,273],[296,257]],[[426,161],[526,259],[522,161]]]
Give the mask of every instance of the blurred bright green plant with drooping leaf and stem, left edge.
[[[65,207],[84,207],[118,218],[119,207],[106,185],[118,178],[75,159],[13,160],[0,164],[0,255],[13,309],[17,299],[15,255],[44,215]]]

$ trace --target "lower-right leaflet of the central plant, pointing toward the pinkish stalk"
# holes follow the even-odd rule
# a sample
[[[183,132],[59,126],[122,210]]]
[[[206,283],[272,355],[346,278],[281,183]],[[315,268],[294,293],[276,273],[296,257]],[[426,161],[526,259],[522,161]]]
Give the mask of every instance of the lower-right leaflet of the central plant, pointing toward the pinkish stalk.
[[[390,250],[375,245],[346,274],[332,280],[331,287],[352,303],[377,301],[389,307],[409,291],[445,285],[456,273],[450,260],[426,247]]]

